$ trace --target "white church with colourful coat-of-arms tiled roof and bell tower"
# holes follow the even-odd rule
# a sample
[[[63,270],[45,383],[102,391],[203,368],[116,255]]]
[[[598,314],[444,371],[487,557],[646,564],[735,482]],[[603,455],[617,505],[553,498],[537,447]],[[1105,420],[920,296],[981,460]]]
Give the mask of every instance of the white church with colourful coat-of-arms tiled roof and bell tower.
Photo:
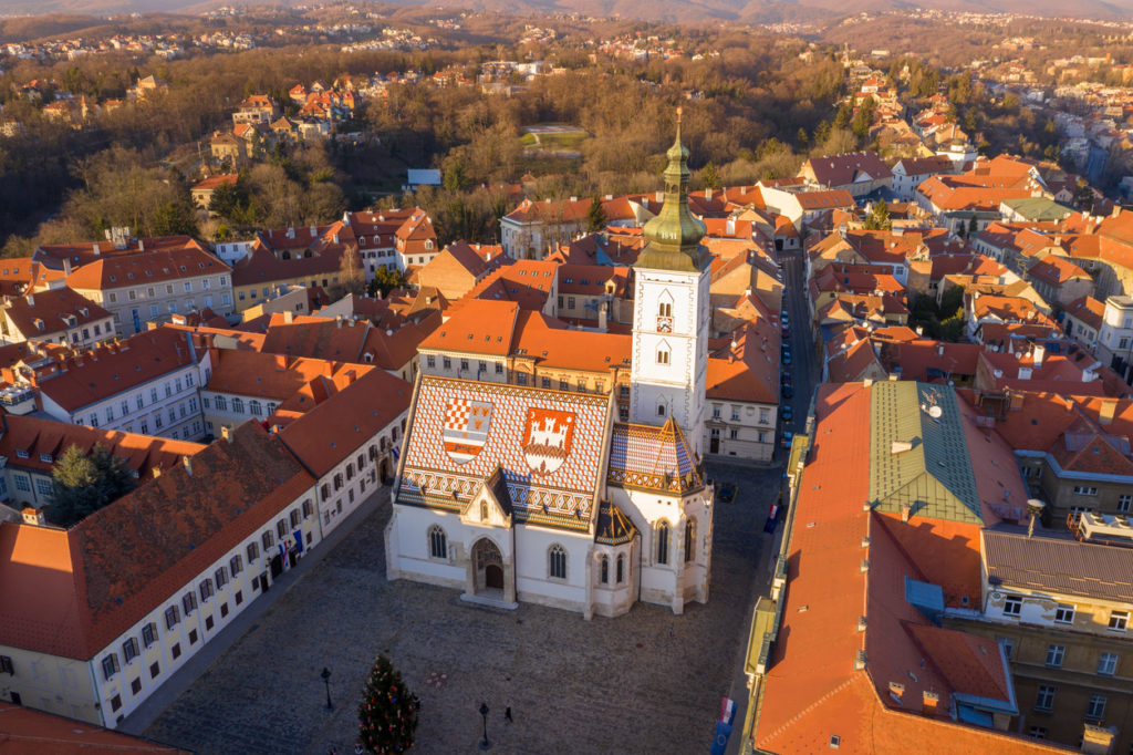
[[[390,579],[588,619],[708,600],[709,255],[688,156],[678,124],[665,203],[633,265],[630,423],[612,395],[423,375],[385,531]]]

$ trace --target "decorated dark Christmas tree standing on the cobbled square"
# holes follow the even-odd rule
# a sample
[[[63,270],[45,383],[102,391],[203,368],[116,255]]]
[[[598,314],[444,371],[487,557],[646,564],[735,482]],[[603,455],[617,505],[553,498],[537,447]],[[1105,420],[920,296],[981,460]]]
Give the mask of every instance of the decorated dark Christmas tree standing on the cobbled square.
[[[378,655],[358,706],[360,741],[367,753],[403,753],[414,744],[417,702],[390,659]]]

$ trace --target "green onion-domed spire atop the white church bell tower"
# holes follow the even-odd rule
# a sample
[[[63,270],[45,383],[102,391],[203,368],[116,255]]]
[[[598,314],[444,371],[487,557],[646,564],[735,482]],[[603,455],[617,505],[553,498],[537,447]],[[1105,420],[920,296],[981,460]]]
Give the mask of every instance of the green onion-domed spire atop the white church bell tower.
[[[676,138],[665,153],[665,204],[645,224],[649,241],[634,266],[651,270],[697,272],[708,264],[708,251],[700,245],[706,228],[689,210],[689,151],[681,144],[681,109],[676,109]]]

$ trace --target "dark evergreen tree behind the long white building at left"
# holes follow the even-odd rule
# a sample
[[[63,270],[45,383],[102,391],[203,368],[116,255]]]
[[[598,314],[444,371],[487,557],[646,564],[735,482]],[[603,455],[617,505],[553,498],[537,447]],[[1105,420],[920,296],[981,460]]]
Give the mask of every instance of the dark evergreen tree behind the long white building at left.
[[[102,444],[91,453],[69,446],[51,470],[52,502],[46,515],[53,524],[69,527],[134,487],[134,476],[122,459]]]

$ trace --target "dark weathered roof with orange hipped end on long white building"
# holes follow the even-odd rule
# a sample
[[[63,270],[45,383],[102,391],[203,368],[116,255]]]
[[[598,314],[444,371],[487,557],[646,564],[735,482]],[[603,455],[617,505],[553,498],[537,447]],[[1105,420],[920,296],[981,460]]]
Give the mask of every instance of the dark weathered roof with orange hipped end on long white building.
[[[254,422],[70,529],[0,525],[0,644],[90,660],[314,485]]]

